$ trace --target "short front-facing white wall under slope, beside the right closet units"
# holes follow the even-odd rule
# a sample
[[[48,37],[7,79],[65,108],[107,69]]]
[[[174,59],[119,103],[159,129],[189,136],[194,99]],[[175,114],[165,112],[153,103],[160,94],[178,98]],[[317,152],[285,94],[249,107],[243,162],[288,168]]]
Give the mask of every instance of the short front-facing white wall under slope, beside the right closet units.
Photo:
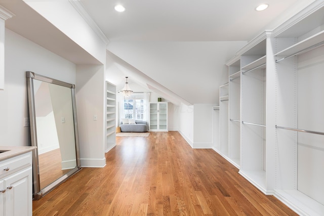
[[[193,105],[193,148],[213,146],[213,106],[215,104]]]

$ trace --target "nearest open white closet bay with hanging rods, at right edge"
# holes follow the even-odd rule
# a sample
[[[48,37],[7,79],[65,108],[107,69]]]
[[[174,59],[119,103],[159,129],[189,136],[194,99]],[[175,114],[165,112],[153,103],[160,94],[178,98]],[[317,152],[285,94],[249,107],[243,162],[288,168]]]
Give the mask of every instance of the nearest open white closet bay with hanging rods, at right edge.
[[[324,4],[271,39],[276,69],[275,195],[324,215]]]

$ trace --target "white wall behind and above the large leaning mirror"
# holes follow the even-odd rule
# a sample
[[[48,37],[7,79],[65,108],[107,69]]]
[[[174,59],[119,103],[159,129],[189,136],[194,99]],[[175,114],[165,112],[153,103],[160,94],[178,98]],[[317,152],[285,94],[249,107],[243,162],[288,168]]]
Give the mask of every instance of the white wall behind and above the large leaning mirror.
[[[0,146],[30,145],[26,71],[75,83],[75,65],[6,29],[5,90],[0,91]]]

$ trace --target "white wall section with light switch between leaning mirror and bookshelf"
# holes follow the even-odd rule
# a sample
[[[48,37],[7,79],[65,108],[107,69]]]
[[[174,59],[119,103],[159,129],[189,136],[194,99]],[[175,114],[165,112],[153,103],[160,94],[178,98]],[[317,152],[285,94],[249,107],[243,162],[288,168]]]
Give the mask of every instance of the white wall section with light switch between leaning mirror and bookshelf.
[[[85,167],[103,167],[105,159],[105,66],[77,65],[75,100],[80,162]],[[93,116],[97,115],[97,120]]]

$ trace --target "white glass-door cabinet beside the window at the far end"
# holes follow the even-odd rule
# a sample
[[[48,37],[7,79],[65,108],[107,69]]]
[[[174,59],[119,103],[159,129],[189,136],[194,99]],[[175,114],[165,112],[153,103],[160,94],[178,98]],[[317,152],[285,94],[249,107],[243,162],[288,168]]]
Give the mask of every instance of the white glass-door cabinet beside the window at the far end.
[[[150,103],[149,131],[168,131],[168,103]]]

